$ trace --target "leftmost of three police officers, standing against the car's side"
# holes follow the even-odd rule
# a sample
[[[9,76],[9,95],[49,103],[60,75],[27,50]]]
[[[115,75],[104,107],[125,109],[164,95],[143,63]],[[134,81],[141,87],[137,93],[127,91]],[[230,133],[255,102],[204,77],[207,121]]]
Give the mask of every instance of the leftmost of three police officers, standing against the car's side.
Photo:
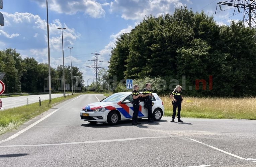
[[[142,94],[138,92],[139,86],[137,84],[133,86],[133,89],[134,90],[132,92],[132,96],[133,96],[133,124],[132,125],[137,125],[137,124],[141,124],[138,122],[138,113],[140,109],[140,97],[142,96]]]

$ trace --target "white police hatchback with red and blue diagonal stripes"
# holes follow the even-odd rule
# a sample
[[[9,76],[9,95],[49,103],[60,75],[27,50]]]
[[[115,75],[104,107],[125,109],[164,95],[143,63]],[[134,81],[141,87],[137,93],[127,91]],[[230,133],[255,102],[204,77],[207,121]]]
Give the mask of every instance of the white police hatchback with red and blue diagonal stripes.
[[[156,93],[152,93],[152,112],[154,120],[161,120],[164,115],[164,103]],[[133,117],[132,92],[120,92],[108,96],[100,102],[91,103],[82,108],[81,120],[90,123],[107,122],[116,125],[121,120],[130,120]],[[148,118],[148,109],[144,102],[140,102],[138,118]]]

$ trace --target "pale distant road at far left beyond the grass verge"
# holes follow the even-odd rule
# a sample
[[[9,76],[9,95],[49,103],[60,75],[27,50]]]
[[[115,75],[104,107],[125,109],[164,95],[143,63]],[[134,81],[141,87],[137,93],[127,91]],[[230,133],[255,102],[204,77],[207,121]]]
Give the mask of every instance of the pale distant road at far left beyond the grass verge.
[[[59,98],[62,96],[64,96],[64,94],[52,94],[52,99]],[[68,94],[66,94],[66,96],[68,96]],[[1,110],[19,107],[19,106],[25,106],[25,105],[27,105],[27,98],[28,98],[28,104],[39,102],[39,97],[40,97],[41,101],[49,100],[49,94],[48,95],[29,95],[29,96],[1,98],[1,101],[2,101]]]

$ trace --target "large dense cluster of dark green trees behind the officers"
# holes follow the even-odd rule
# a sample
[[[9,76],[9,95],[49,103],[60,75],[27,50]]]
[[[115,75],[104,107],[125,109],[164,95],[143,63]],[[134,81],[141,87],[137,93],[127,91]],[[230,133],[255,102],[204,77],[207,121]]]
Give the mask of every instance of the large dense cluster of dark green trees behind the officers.
[[[167,81],[162,92],[170,92],[174,87],[169,85],[177,79],[189,96],[254,96],[255,32],[241,21],[219,26],[213,16],[186,7],[173,15],[151,15],[117,39],[109,78],[161,77]]]

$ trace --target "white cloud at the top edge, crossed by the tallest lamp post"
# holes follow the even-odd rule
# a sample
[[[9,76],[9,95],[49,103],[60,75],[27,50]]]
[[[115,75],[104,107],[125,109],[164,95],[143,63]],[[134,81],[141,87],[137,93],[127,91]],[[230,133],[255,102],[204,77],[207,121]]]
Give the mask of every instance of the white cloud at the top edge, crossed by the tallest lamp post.
[[[41,7],[46,8],[46,2],[41,0],[33,0],[37,2]],[[83,12],[85,15],[89,15],[93,18],[101,18],[105,16],[105,11],[102,6],[106,6],[108,3],[103,4],[96,0],[51,0],[48,1],[49,10],[56,11],[58,13],[76,14]]]

